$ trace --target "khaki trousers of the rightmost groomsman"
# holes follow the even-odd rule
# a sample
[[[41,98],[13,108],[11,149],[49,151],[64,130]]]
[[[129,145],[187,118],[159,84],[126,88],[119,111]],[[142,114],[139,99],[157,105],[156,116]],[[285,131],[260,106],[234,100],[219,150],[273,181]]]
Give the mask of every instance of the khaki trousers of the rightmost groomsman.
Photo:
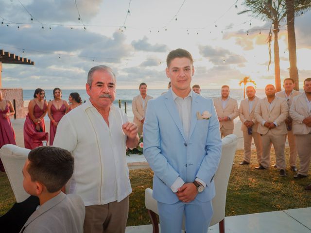
[[[296,135],[297,150],[300,159],[298,174],[307,176],[311,161],[311,133]]]

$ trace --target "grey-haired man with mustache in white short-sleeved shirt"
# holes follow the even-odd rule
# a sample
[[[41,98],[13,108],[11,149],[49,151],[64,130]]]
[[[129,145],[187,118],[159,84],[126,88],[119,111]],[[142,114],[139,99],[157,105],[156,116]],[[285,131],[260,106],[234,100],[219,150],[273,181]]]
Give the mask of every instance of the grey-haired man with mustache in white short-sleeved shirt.
[[[138,144],[137,125],[112,104],[111,68],[92,67],[86,93],[89,99],[61,119],[55,135],[54,146],[75,160],[66,192],[80,195],[86,205],[85,233],[124,233],[132,192],[125,150]]]

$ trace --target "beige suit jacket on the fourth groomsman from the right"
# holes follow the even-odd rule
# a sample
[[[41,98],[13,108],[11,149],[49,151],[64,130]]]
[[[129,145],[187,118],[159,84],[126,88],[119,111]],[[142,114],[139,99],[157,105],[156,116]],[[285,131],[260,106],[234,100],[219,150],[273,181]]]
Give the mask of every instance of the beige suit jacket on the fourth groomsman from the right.
[[[257,132],[258,122],[255,118],[255,108],[256,108],[256,105],[259,101],[259,98],[256,96],[253,101],[254,102],[253,102],[253,106],[252,106],[250,113],[249,113],[249,109],[248,109],[248,99],[242,100],[240,103],[239,117],[240,117],[240,120],[242,121],[242,125],[241,125],[242,131],[247,131],[247,127],[244,125],[244,122],[246,120],[249,120],[249,121],[254,122],[254,125],[252,126],[252,131]]]

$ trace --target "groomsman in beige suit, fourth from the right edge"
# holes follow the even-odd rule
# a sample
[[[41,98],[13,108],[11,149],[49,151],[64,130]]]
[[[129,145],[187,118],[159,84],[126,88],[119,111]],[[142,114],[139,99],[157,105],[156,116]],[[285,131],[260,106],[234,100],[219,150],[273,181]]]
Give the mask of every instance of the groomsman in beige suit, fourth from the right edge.
[[[244,160],[240,163],[240,165],[248,165],[251,161],[251,147],[253,138],[256,146],[257,161],[259,164],[261,163],[261,138],[260,134],[257,133],[258,122],[254,116],[255,107],[259,101],[259,98],[255,94],[256,90],[253,86],[246,87],[247,99],[241,101],[239,108],[239,117],[242,121],[241,130],[243,132],[244,139]]]

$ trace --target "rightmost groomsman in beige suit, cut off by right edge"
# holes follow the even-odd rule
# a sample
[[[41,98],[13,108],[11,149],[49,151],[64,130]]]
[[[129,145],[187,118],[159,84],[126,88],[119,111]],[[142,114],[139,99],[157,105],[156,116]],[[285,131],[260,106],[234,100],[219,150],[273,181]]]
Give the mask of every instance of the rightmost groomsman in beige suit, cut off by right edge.
[[[294,175],[295,179],[307,177],[311,161],[311,78],[303,82],[303,89],[302,95],[294,97],[290,109],[300,159],[300,168],[298,174]],[[311,185],[308,186],[306,189],[311,190]]]

